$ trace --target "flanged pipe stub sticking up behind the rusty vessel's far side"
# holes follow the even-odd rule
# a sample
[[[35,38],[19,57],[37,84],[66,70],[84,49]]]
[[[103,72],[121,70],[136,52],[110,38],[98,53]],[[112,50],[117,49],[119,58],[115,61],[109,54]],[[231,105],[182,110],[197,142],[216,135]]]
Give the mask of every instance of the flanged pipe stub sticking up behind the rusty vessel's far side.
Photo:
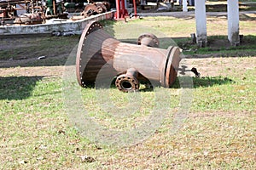
[[[159,40],[154,34],[144,33],[140,37],[137,38],[138,45],[145,45],[152,48],[159,47]]]

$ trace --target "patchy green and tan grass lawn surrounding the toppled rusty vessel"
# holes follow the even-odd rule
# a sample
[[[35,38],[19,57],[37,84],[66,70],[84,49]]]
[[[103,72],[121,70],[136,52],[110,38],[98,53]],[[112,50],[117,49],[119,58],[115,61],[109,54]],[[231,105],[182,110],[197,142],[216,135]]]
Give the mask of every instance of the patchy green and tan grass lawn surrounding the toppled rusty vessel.
[[[150,90],[142,85],[138,94],[120,93],[114,87],[79,88],[76,82],[63,81],[64,71],[73,68],[65,62],[75,56],[79,37],[44,37],[32,45],[29,42],[35,39],[17,40],[26,40],[22,47],[32,50],[19,43],[11,50],[8,41],[15,39],[1,40],[1,169],[255,169],[255,20],[241,20],[245,39],[236,48],[215,43],[225,37],[223,23],[225,18],[209,18],[210,44],[197,48],[189,40],[195,32],[193,18],[103,22],[106,31],[125,42],[135,42],[143,28],[160,38],[161,48],[177,43],[188,57],[183,65],[201,72],[201,77],[190,79],[193,89],[180,88],[179,76],[172,88]],[[37,59],[41,55],[47,58]],[[181,104],[189,102],[186,99],[191,105],[177,119]],[[145,126],[150,135],[143,139],[137,134],[134,139],[143,140],[125,147],[93,142],[84,135],[88,129],[102,141],[119,137],[86,125],[80,130],[73,126],[71,120],[84,120],[76,117],[79,102],[85,118],[98,125],[119,132]],[[163,119],[154,116],[162,113]],[[176,119],[181,121],[178,126]],[[161,121],[159,127],[154,120]]]

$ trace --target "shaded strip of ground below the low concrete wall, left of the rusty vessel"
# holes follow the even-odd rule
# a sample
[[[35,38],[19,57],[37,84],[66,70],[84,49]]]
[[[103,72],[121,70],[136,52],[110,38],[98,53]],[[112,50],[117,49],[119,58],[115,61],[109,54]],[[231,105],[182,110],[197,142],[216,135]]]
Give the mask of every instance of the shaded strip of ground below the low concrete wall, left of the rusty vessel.
[[[79,42],[78,36],[73,37],[12,37],[0,39],[0,67],[19,62],[23,65],[26,60],[40,56],[59,57],[68,55]],[[11,62],[8,62],[11,61]],[[15,66],[12,64],[10,66]]]

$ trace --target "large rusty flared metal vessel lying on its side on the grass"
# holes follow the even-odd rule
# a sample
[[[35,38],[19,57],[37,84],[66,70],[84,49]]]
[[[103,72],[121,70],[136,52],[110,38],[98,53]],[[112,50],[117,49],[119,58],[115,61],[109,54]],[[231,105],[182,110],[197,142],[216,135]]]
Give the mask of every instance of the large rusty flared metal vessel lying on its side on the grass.
[[[76,74],[79,85],[86,87],[99,77],[116,77],[120,91],[137,91],[141,81],[170,88],[177,77],[180,49],[158,47],[152,34],[143,34],[138,44],[119,42],[103,30],[97,21],[90,22],[79,41]],[[101,81],[98,81],[101,82]]]

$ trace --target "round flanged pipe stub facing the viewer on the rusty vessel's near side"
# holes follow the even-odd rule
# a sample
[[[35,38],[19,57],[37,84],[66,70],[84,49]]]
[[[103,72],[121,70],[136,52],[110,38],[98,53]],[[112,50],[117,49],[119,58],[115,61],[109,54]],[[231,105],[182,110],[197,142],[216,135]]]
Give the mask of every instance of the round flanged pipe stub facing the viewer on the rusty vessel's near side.
[[[115,86],[122,92],[136,92],[139,89],[137,75],[137,71],[130,68],[126,71],[126,74],[116,78]]]

